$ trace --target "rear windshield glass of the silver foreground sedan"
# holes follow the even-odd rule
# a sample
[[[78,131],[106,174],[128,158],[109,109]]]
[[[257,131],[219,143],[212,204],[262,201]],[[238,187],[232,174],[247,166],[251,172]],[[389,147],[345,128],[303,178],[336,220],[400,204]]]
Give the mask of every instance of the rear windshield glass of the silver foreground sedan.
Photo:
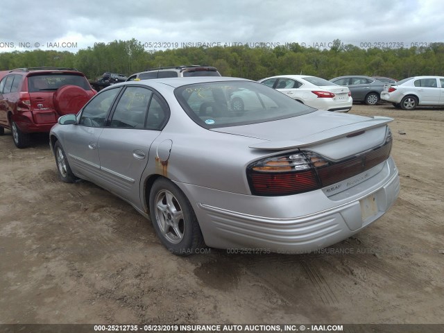
[[[315,111],[273,88],[249,81],[185,85],[174,94],[189,117],[204,128],[261,123]]]

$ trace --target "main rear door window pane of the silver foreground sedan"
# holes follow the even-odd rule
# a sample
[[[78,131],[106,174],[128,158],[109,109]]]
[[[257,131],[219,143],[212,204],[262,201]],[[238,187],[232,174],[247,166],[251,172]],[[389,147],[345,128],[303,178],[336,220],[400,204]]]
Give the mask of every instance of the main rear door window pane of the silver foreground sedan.
[[[144,128],[146,110],[153,92],[142,87],[128,87],[117,103],[110,127]]]

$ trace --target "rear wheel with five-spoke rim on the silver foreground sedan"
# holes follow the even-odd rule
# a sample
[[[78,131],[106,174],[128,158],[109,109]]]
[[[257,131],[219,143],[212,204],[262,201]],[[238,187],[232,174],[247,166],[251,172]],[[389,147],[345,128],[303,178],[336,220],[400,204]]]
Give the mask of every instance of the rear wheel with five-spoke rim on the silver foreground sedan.
[[[205,242],[189,200],[166,178],[157,179],[150,191],[150,216],[157,237],[175,255],[191,255]]]

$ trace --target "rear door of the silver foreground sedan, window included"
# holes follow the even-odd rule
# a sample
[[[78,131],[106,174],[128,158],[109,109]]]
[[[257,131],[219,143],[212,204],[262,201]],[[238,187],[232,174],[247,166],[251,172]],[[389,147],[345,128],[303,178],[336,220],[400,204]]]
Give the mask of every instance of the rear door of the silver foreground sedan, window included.
[[[148,153],[167,114],[151,89],[127,86],[99,137],[101,174],[114,194],[137,202]]]

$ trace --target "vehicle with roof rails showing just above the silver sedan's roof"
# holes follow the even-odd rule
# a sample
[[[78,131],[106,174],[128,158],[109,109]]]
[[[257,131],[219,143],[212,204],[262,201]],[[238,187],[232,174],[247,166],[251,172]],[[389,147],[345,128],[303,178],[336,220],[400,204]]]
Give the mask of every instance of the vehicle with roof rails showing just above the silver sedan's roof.
[[[127,81],[148,80],[152,78],[187,78],[189,76],[221,76],[216,67],[211,66],[176,66],[151,68],[133,74]]]

